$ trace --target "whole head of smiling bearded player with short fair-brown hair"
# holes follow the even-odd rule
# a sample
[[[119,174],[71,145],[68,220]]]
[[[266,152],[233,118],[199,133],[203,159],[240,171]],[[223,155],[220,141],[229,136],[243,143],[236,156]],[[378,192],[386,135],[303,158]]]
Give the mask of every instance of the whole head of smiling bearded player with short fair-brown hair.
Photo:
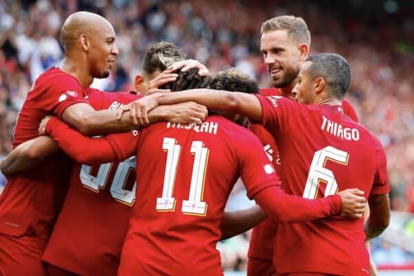
[[[311,33],[302,17],[284,15],[262,23],[260,51],[273,86],[289,86],[311,46]]]

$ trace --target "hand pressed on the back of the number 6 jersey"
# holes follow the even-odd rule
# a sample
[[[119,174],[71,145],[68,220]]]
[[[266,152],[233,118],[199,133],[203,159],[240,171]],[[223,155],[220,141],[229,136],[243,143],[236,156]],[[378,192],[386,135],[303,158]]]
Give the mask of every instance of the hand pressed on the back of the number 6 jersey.
[[[365,211],[366,199],[363,197],[364,192],[357,188],[342,190],[338,193],[342,199],[343,217],[352,219],[362,218]]]

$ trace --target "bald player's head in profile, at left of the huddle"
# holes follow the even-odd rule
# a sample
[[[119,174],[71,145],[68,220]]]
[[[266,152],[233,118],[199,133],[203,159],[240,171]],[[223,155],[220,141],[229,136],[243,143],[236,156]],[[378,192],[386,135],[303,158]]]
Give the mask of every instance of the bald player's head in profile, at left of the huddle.
[[[67,59],[86,66],[92,77],[105,78],[115,63],[118,48],[112,25],[99,14],[75,12],[61,28],[61,42]]]

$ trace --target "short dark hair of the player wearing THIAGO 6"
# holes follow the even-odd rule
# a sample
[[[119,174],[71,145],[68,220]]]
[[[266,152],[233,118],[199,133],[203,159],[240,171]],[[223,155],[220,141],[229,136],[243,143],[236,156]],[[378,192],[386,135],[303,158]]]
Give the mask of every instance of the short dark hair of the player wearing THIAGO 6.
[[[322,52],[308,57],[311,65],[306,71],[312,79],[322,77],[328,83],[329,90],[337,99],[343,99],[351,86],[351,67],[341,55],[331,52]]]

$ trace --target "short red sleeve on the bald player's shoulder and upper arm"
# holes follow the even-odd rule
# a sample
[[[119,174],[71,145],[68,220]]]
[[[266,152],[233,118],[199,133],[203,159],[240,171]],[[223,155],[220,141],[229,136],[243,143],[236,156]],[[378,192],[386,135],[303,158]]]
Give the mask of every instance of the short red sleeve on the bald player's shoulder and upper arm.
[[[57,74],[48,81],[43,81],[39,86],[45,86],[39,94],[39,101],[45,110],[52,110],[57,117],[66,108],[75,103],[88,103],[83,97],[83,89],[79,81],[68,74]]]

